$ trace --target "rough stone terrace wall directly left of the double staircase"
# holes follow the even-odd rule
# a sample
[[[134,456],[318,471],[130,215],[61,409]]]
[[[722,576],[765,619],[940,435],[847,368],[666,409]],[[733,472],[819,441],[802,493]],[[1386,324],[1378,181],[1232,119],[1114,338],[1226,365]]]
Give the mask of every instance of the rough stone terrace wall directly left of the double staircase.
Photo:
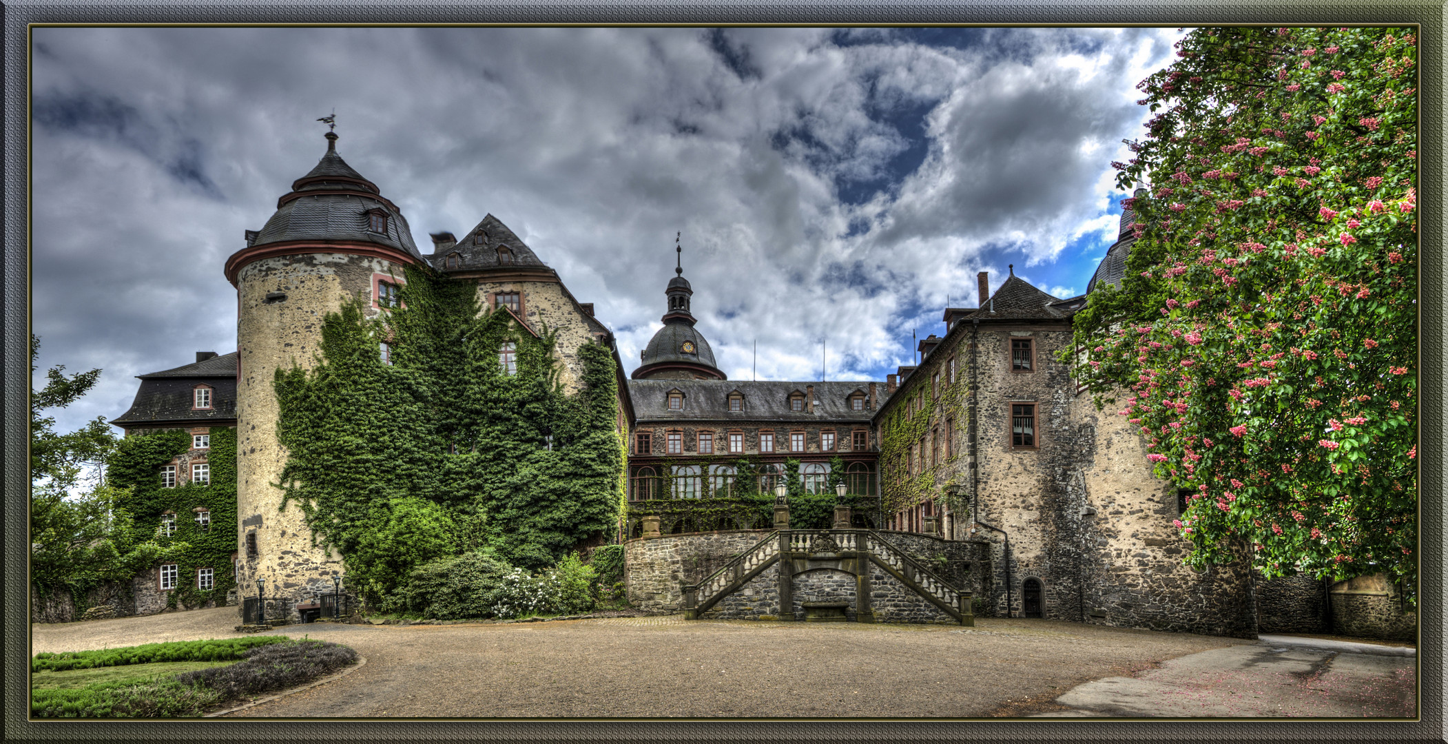
[[[628,604],[652,611],[679,609],[685,583],[698,583],[766,534],[769,530],[744,530],[628,540],[624,543]]]

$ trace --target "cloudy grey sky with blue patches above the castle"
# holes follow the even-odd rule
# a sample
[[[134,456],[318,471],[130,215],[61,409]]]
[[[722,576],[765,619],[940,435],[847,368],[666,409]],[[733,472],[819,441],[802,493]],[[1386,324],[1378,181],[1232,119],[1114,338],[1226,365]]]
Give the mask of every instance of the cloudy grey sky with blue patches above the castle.
[[[682,232],[721,369],[883,379],[1008,265],[1070,297],[1115,239],[1111,161],[1177,29],[36,29],[39,365],[236,349],[243,232],[337,151],[427,233],[492,213],[637,365]],[[43,379],[36,375],[36,379]]]

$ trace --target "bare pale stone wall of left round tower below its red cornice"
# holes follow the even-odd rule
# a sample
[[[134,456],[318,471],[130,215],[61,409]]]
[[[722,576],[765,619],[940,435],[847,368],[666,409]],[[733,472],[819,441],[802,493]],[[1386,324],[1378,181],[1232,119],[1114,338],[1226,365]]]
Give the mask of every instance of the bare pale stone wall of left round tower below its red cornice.
[[[403,281],[404,269],[388,261],[339,253],[281,256],[252,262],[237,274],[236,342],[240,352],[236,386],[236,582],[255,586],[266,579],[268,595],[310,601],[330,591],[330,576],[342,569],[342,556],[311,546],[311,530],[301,510],[281,511],[277,482],[287,453],[277,441],[274,372],[297,365],[310,369],[320,355],[323,317],[343,300],[362,292],[371,304],[372,275]],[[266,301],[268,292],[285,292]],[[376,310],[369,310],[375,316]],[[246,534],[256,534],[256,556],[246,550]]]

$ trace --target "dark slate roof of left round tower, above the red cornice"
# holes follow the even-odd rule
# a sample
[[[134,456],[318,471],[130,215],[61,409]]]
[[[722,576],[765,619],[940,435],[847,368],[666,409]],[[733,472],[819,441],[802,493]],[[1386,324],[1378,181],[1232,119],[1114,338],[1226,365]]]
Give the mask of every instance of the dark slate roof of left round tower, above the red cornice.
[[[336,135],[327,133],[327,152],[292,190],[278,200],[277,213],[251,246],[294,240],[378,243],[421,258],[413,233],[395,204],[362,178],[336,152]],[[369,214],[387,214],[387,232],[372,232]]]

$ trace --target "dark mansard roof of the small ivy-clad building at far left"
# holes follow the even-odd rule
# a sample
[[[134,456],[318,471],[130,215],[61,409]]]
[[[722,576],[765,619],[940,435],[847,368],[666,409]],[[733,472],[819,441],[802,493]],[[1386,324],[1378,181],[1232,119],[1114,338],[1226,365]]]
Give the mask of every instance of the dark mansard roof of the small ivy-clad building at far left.
[[[145,424],[227,426],[236,423],[236,358],[237,353],[213,356],[201,362],[161,372],[136,375],[140,388],[130,408],[110,423],[119,427]],[[193,389],[204,382],[211,386],[211,408],[191,408]]]

